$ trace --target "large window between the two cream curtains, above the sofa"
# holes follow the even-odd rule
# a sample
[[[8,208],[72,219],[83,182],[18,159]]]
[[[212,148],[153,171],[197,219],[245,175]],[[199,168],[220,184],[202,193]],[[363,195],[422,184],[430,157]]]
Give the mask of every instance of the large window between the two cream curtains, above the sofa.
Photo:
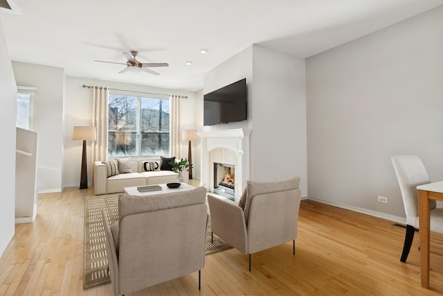
[[[169,155],[169,99],[109,93],[109,157]]]

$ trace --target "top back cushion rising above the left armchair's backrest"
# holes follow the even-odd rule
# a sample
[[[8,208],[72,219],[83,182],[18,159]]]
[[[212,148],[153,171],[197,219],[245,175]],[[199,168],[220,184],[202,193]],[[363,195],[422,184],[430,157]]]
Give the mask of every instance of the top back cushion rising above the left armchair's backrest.
[[[204,203],[206,203],[206,188],[204,186],[187,191],[146,196],[120,194],[118,196],[119,220],[121,221],[127,215],[145,211],[158,211]]]

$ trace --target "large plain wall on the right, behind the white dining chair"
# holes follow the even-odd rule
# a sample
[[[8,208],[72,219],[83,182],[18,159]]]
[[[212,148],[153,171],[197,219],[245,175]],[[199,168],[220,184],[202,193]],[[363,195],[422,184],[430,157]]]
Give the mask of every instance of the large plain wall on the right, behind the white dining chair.
[[[442,36],[440,7],[307,59],[309,197],[404,217],[392,155],[443,180]]]

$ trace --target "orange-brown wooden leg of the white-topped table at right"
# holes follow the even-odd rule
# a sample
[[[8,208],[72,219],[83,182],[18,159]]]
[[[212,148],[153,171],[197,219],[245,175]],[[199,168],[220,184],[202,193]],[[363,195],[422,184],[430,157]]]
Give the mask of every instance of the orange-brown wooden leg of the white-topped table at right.
[[[418,191],[419,232],[420,232],[420,266],[422,269],[422,287],[429,288],[429,236],[431,223],[428,191]]]

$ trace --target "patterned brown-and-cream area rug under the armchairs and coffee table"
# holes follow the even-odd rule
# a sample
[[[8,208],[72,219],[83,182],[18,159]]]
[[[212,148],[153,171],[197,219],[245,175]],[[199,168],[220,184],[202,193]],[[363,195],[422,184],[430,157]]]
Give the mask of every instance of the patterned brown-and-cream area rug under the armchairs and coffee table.
[[[84,203],[84,261],[83,288],[91,288],[111,281],[106,256],[106,235],[102,209],[107,212],[109,223],[118,220],[118,195],[93,198]],[[211,243],[210,221],[206,232],[206,254],[229,249],[231,246],[214,235]]]

